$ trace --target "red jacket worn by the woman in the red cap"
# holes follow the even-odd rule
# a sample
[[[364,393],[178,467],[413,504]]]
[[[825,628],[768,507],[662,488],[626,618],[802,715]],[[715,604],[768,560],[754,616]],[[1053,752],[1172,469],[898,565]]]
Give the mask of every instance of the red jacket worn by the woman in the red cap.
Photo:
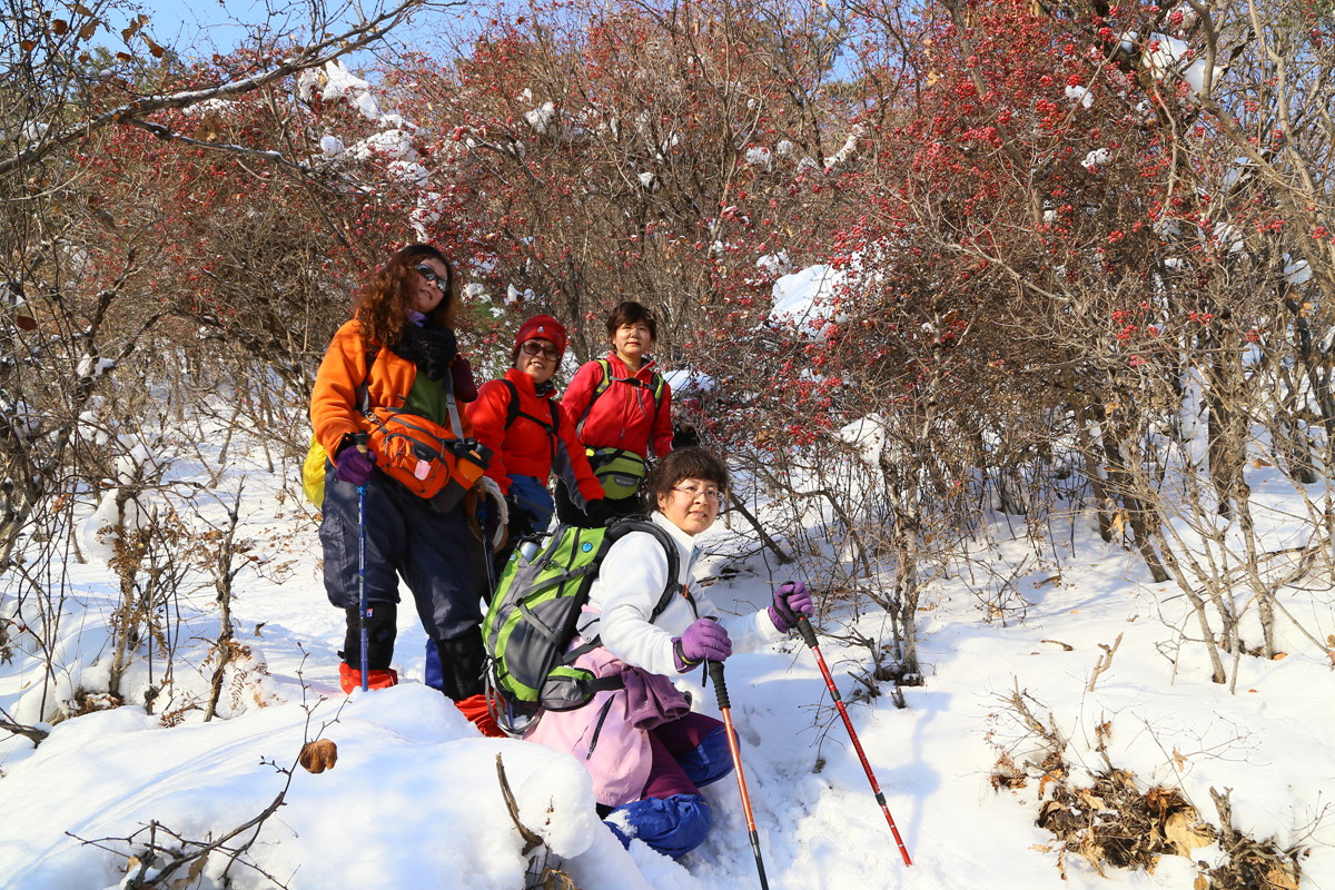
[[[506,371],[505,379],[519,394],[521,416],[509,427],[510,388],[503,382],[487,380],[478,390],[477,402],[467,406],[474,438],[491,448],[487,475],[501,486],[502,494],[510,494],[511,474],[533,476],[547,484],[547,476],[555,470],[571,491],[578,488],[585,500],[601,500],[602,486],[589,467],[589,458],[575,438],[575,427],[561,410],[555,391],[538,395],[533,378],[517,368]],[[557,410],[553,411],[551,406]],[[558,424],[555,436],[547,431],[553,414]]]

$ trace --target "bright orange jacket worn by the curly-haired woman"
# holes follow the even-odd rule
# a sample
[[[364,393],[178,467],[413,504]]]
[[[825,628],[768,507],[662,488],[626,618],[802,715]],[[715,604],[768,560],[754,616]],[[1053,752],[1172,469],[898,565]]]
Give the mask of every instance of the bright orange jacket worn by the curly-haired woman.
[[[402,408],[417,380],[417,366],[400,355],[380,347],[371,363],[371,375],[366,375],[366,344],[362,342],[362,323],[356,319],[344,322],[334,335],[320,370],[315,375],[311,390],[311,428],[324,450],[332,458],[346,432],[370,431],[370,422],[362,416],[358,404],[358,387],[367,382],[367,392],[372,408]],[[449,418],[429,418],[449,428]],[[459,423],[463,435],[470,435],[470,426],[462,416]]]

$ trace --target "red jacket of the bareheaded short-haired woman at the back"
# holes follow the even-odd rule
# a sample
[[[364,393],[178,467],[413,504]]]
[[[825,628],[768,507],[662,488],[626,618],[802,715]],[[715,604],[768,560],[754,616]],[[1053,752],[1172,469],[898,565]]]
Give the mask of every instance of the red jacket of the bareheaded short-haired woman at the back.
[[[631,374],[615,351],[606,360],[611,366],[613,383],[602,395],[594,398],[602,382],[602,366],[585,362],[561,396],[566,416],[579,431],[579,442],[589,448],[625,448],[641,458],[647,458],[653,446],[654,456],[662,458],[672,451],[672,387],[663,382],[662,403],[655,406],[650,384],[653,362],[645,362],[639,371]],[[635,380],[642,386],[621,380]]]

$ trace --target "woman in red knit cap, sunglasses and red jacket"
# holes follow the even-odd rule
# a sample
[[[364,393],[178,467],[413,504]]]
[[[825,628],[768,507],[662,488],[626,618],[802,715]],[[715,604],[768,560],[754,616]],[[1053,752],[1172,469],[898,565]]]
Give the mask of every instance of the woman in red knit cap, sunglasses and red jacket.
[[[565,351],[561,322],[533,316],[519,326],[513,367],[499,380],[482,384],[477,402],[469,406],[473,435],[493,454],[487,475],[501,487],[510,511],[509,539],[493,562],[497,576],[521,538],[547,527],[553,512],[547,478],[553,470],[593,523],[603,524],[613,515],[551,382]]]

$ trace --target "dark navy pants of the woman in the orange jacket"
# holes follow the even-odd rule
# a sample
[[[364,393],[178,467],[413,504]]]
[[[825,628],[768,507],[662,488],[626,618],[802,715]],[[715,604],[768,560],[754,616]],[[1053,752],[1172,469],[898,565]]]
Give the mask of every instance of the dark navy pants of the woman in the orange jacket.
[[[356,500],[356,486],[342,482],[332,464],[326,464],[320,522],[324,592],[334,606],[344,610],[358,606]],[[426,635],[470,662],[453,666],[454,673],[470,683],[475,677],[473,691],[481,693],[486,587],[482,544],[469,530],[462,504],[437,511],[430,502],[376,471],[366,486],[367,604],[374,610],[375,603],[398,603],[400,576],[413,594]],[[392,628],[387,632],[392,646]],[[459,695],[473,691],[451,690]]]

